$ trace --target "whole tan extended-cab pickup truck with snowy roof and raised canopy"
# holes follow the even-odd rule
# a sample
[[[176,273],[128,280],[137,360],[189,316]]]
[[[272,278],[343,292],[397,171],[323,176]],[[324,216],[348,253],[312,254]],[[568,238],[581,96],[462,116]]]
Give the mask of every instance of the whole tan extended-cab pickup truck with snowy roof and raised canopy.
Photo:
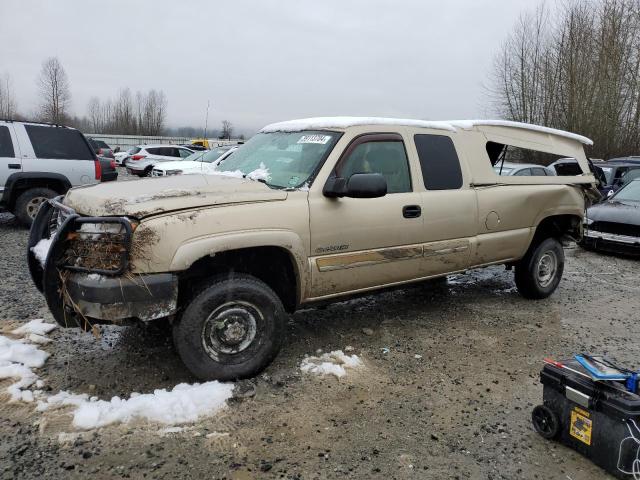
[[[65,326],[169,317],[201,379],[255,375],[287,312],[486,265],[526,298],[562,277],[562,239],[598,196],[579,135],[501,121],[273,124],[219,175],[70,190],[45,204],[29,268]],[[503,175],[575,158],[578,176]]]

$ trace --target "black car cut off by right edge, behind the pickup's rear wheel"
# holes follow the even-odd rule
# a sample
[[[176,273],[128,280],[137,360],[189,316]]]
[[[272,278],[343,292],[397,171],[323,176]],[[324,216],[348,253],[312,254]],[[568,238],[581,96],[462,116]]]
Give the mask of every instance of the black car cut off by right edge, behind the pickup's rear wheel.
[[[640,255],[640,178],[587,209],[580,244],[587,249]]]

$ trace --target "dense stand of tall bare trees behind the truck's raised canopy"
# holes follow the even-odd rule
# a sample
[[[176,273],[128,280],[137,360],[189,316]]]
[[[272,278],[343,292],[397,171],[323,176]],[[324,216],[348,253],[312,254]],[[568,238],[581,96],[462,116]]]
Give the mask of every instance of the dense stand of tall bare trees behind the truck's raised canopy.
[[[640,0],[522,15],[495,58],[490,94],[505,119],[592,138],[594,158],[640,154]]]

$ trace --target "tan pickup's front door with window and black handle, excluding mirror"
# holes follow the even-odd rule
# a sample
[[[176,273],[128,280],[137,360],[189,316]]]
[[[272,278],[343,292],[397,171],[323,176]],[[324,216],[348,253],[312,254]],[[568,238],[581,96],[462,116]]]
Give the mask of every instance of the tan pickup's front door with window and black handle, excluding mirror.
[[[380,198],[327,198],[309,193],[311,297],[331,296],[416,278],[422,262],[421,194],[414,191],[399,134],[356,137],[333,174],[380,173]]]

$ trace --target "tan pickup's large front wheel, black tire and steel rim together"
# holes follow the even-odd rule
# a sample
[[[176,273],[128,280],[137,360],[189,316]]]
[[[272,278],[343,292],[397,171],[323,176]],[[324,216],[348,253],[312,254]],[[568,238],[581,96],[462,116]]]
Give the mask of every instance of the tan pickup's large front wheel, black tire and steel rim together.
[[[185,366],[201,380],[252,377],[282,346],[286,313],[267,284],[244,274],[216,277],[174,324]]]

